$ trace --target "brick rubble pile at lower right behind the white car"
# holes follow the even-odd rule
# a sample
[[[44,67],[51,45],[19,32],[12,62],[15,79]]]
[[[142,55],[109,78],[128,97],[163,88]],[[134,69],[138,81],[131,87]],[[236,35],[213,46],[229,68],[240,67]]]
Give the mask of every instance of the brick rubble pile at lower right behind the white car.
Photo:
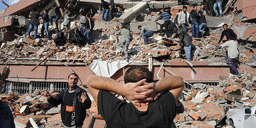
[[[174,122],[177,127],[223,127],[229,109],[256,105],[255,89],[256,76],[247,73],[220,77],[217,86],[195,83],[183,91],[185,111]]]

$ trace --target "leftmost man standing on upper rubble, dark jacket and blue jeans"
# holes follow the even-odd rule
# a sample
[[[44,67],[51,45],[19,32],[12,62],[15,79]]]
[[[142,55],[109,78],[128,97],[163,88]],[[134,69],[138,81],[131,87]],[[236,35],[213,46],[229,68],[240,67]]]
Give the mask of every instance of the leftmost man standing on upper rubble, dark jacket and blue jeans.
[[[33,31],[34,28],[34,37],[33,39],[37,38],[37,29],[38,29],[38,25],[39,25],[39,13],[38,11],[35,11],[35,8],[33,9],[33,11],[29,14],[29,18],[31,18],[31,24],[29,24],[29,30],[27,31],[27,37],[29,37],[31,31]]]

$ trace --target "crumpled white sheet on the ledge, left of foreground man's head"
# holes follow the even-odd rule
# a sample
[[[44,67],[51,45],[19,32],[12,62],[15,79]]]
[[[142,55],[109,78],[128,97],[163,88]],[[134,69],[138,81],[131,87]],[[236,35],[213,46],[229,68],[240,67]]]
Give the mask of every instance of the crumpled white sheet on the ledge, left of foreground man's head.
[[[131,63],[131,61],[129,63]],[[107,63],[107,61],[94,60],[93,63],[89,65],[89,69],[91,69],[95,75],[111,77],[119,69],[129,65],[129,63],[127,61],[114,61],[112,63]]]

